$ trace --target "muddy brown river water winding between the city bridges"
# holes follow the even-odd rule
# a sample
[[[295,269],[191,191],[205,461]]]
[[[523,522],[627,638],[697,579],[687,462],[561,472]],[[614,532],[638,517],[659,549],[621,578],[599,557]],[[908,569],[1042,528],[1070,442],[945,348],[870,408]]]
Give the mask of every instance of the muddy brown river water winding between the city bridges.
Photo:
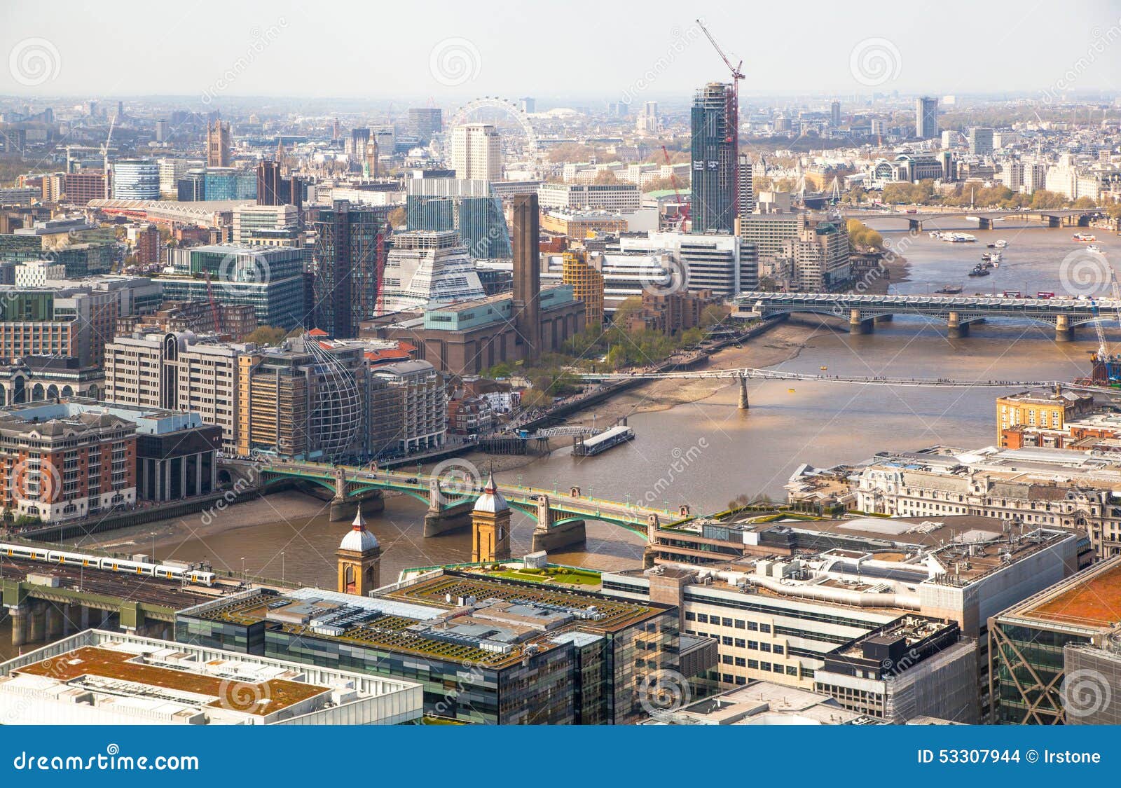
[[[1080,249],[1071,229],[1047,230],[1038,224],[1001,226],[978,231],[964,220],[941,229],[973,233],[978,243],[945,243],[928,237],[939,229],[928,223],[911,235],[900,221],[869,222],[902,250],[910,263],[909,281],[896,282],[893,291],[933,293],[946,285],[962,285],[964,294],[1020,290],[1063,291],[1060,261]],[[1119,239],[1095,231],[1099,245],[1109,254],[1121,249]],[[966,276],[997,239],[1009,241],[1003,260],[992,275]],[[902,245],[900,245],[902,244]],[[1043,324],[990,321],[975,325],[969,337],[947,340],[945,326],[919,317],[897,316],[877,324],[876,333],[850,336],[840,321],[806,317],[784,327],[800,332],[802,347],[777,367],[800,372],[828,369],[833,374],[907,376],[957,379],[1057,379],[1087,372],[1087,352],[1096,346],[1094,332],[1080,330],[1076,341],[1054,342],[1054,331]],[[1111,341],[1118,326],[1108,327]],[[766,342],[767,335],[758,341]],[[735,351],[720,363],[735,365]],[[659,382],[641,397],[657,398]],[[522,467],[500,471],[504,482],[552,489],[580,485],[585,494],[615,500],[642,501],[676,508],[688,503],[694,512],[716,511],[740,494],[784,497],[784,484],[802,463],[827,466],[867,458],[883,449],[917,449],[934,444],[976,447],[994,442],[993,400],[1000,389],[888,389],[846,383],[797,383],[753,381],[750,410],[736,408],[734,384],[720,388],[697,401],[652,412],[634,412],[629,423],[634,441],[600,456],[577,460],[562,446]],[[277,577],[284,573],[331,586],[335,580],[334,550],[348,525],[328,522],[325,511],[293,514],[284,503],[265,525],[238,527],[238,509],[223,517],[226,530],[192,536],[185,534],[160,545],[160,557],[209,559],[234,572],[244,569]],[[318,503],[314,507],[318,509]],[[369,518],[370,529],[385,551],[382,578],[387,582],[409,566],[426,566],[470,559],[466,532],[424,539],[425,507],[408,498],[387,499],[386,510]],[[528,550],[532,522],[516,516],[515,554]],[[622,529],[589,523],[589,543],[580,551],[552,556],[557,563],[596,568],[639,565],[641,540]],[[143,543],[138,544],[138,549]],[[243,560],[242,560],[243,557]]]

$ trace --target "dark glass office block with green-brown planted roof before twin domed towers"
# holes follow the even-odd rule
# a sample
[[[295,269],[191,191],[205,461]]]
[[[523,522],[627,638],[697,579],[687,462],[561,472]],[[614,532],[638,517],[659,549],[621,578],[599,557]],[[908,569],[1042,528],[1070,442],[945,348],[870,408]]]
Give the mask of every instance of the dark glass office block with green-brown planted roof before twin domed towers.
[[[490,724],[623,724],[678,668],[675,608],[447,569],[371,596],[253,590],[183,610],[179,642],[408,678],[425,713]]]

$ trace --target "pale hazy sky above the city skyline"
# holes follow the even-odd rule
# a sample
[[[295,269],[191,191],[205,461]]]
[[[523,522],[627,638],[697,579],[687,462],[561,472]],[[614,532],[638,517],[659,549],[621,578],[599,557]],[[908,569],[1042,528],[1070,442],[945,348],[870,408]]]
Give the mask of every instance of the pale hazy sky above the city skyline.
[[[1121,0],[0,0],[0,94],[687,96],[1115,90]]]

